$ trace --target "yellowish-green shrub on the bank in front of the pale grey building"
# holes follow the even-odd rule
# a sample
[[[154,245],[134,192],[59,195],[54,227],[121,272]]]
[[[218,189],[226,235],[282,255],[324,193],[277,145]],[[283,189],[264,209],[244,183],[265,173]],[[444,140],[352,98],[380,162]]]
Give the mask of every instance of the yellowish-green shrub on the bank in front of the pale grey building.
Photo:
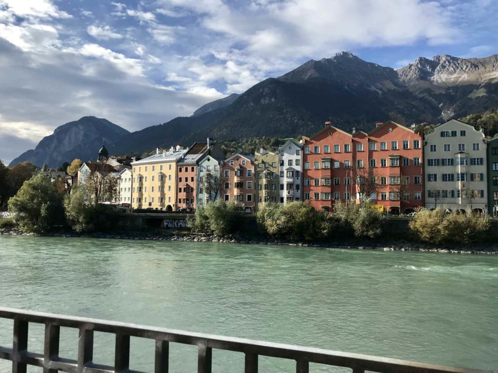
[[[410,221],[410,230],[423,241],[439,243],[469,243],[482,236],[490,227],[489,219],[467,214],[445,212],[446,208],[422,210]]]

